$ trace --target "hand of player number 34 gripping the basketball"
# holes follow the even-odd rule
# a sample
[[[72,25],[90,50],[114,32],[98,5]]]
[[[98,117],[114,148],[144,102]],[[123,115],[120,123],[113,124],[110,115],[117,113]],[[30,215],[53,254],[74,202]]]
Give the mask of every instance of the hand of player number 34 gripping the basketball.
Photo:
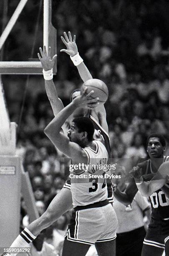
[[[93,108],[96,108],[99,104],[98,100],[99,98],[94,98],[94,99],[91,99],[91,95],[93,94],[93,90],[91,92],[89,92],[88,94],[86,94],[86,91],[87,91],[88,87],[86,87],[84,90],[83,90],[83,93],[82,95],[76,97],[74,100],[73,100],[73,104],[76,106],[76,108],[79,108],[79,107],[83,107],[83,108],[90,108],[90,109],[93,109]]]

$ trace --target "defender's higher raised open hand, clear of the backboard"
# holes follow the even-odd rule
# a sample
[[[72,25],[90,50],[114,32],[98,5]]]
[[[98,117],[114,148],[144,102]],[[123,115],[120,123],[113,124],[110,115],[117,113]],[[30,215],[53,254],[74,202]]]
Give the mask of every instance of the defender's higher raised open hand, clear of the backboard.
[[[78,53],[78,47],[76,45],[76,36],[73,36],[73,40],[72,40],[72,36],[71,36],[71,32],[68,32],[68,36],[66,34],[66,32],[63,33],[64,37],[61,36],[61,40],[63,42],[63,44],[66,45],[67,49],[61,49],[61,51],[66,52],[68,55],[70,55],[71,57],[75,56]]]

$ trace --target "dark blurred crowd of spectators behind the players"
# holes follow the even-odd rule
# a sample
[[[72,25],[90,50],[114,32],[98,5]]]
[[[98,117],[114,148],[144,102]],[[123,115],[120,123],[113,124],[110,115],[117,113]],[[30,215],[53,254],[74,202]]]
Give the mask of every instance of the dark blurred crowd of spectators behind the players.
[[[78,51],[93,78],[109,90],[106,102],[112,158],[146,157],[146,137],[162,133],[169,143],[169,2],[166,0],[58,0],[52,22],[57,29],[57,75],[63,104],[82,84],[76,67],[60,50],[63,32],[76,34]],[[8,1],[8,22],[19,0]],[[37,58],[43,46],[43,1],[28,1],[5,47],[4,61]],[[3,17],[3,1],[0,1]],[[37,29],[38,28],[38,29]],[[64,156],[43,133],[53,112],[42,75],[3,75],[10,120],[19,124],[17,154],[30,174],[35,199],[49,200],[64,184]],[[21,116],[21,106],[23,115]],[[169,153],[169,150],[166,151]],[[24,205],[24,203],[23,203]],[[23,209],[23,216],[26,214]],[[67,221],[65,217],[65,221]]]

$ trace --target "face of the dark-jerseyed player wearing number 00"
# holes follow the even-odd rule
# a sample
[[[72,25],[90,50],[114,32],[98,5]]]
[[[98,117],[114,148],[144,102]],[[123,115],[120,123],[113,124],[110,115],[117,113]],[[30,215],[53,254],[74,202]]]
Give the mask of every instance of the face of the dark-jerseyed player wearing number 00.
[[[164,147],[159,138],[149,138],[147,152],[150,158],[160,158],[164,154]]]

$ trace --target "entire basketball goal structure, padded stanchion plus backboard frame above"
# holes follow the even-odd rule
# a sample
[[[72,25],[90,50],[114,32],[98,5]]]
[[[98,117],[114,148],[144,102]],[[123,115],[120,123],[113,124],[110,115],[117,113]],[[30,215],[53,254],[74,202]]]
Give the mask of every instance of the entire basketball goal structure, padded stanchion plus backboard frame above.
[[[28,0],[20,0],[14,15],[11,17],[3,34],[0,36],[1,46],[13,28]],[[44,3],[44,45],[50,45],[51,54],[56,54],[56,29],[51,22],[52,0]],[[56,64],[53,74],[56,74]],[[0,61],[0,74],[41,74],[40,61]],[[24,171],[20,157],[16,151],[16,124],[10,123],[5,105],[2,80],[0,77],[0,247],[9,247],[20,233],[20,198],[23,196],[29,221],[39,217],[35,206],[35,198],[28,172]],[[1,252],[0,252],[1,255]],[[19,254],[20,256],[23,254]],[[25,255],[25,254],[24,254]]]

